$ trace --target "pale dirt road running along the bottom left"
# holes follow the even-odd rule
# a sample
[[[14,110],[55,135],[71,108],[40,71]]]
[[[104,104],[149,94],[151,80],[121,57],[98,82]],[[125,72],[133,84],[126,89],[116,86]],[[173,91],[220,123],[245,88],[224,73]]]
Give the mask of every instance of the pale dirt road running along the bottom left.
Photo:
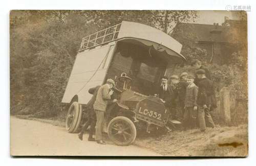
[[[160,156],[134,145],[120,147],[79,140],[65,128],[11,117],[10,147],[13,156]],[[87,134],[84,138],[87,138]]]

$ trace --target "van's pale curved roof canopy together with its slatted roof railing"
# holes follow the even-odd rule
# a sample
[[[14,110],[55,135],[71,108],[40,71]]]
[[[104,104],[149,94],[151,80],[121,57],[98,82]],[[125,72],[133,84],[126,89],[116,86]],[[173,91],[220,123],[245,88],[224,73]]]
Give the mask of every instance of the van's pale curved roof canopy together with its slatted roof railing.
[[[83,37],[79,51],[125,38],[137,39],[148,46],[153,45],[160,52],[172,53],[170,55],[185,60],[184,56],[180,54],[182,44],[177,40],[156,28],[131,21],[122,21],[115,26]]]

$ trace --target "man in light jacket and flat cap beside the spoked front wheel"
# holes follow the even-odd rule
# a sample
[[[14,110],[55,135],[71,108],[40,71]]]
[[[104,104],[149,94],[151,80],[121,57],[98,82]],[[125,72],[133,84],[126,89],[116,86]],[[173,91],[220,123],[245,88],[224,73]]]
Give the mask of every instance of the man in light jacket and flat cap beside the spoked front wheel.
[[[111,95],[113,94],[112,88],[115,86],[115,82],[112,79],[106,80],[106,84],[102,85],[98,92],[93,108],[96,113],[96,138],[98,144],[105,144],[102,140],[102,128],[104,122],[104,114],[106,111],[106,106],[108,105],[108,101],[111,100]]]

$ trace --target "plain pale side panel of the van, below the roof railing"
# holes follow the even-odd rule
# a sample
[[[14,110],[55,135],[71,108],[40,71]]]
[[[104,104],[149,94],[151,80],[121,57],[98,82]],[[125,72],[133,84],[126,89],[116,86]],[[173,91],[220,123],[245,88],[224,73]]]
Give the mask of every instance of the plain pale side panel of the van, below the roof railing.
[[[114,45],[105,45],[79,53],[61,102],[70,103],[77,94],[78,102],[87,104],[91,99],[88,90],[102,84],[113,51]]]

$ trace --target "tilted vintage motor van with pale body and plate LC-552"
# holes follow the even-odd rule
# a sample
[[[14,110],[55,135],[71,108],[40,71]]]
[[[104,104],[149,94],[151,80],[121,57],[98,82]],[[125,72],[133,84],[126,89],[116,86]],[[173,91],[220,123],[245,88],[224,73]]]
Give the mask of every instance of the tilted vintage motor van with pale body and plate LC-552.
[[[163,129],[168,112],[158,93],[160,77],[184,63],[182,45],[160,30],[141,23],[118,25],[82,38],[63,103],[70,103],[66,129],[78,132],[87,121],[89,88],[115,80],[118,102],[106,110],[104,131],[117,145],[130,145],[137,131]],[[173,122],[173,121],[172,121]]]

